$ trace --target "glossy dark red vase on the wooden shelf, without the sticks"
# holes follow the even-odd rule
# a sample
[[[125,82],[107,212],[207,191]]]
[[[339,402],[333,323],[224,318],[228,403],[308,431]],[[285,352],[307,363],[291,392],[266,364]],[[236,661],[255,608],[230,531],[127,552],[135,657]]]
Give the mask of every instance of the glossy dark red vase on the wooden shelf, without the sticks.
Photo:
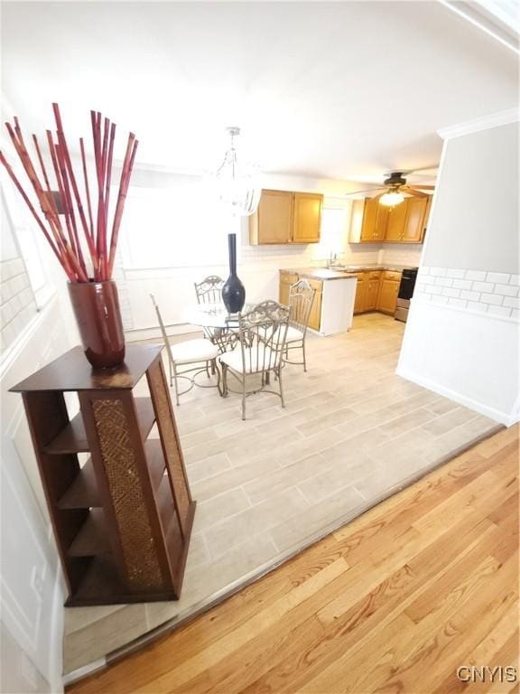
[[[125,360],[125,334],[116,283],[70,282],[70,303],[85,356],[95,369],[110,369]]]

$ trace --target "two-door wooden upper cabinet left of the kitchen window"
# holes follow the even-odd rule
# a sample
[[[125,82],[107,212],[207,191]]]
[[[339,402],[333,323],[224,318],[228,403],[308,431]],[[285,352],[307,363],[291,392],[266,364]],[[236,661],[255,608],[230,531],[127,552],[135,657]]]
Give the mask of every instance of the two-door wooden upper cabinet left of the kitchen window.
[[[249,243],[318,243],[322,204],[319,193],[262,191],[249,218]]]

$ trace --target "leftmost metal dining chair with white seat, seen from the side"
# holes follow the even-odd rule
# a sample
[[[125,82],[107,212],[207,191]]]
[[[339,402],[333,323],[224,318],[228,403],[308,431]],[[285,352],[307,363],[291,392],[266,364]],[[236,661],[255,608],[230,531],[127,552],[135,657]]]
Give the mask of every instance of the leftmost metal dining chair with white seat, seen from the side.
[[[179,342],[178,344],[172,344],[168,333],[166,333],[166,328],[163,323],[163,316],[159,310],[159,306],[155,301],[155,296],[150,295],[152,299],[153,308],[157,314],[157,320],[159,322],[159,327],[161,328],[161,334],[163,335],[164,346],[166,347],[166,353],[168,354],[168,365],[170,367],[170,385],[175,389],[175,401],[177,405],[180,405],[179,397],[184,395],[193,386],[199,386],[200,388],[218,388],[220,390],[220,371],[217,366],[217,357],[219,354],[218,346],[206,340],[204,338],[198,338],[194,340],[186,340],[185,342]],[[204,366],[200,366],[203,363]],[[217,374],[217,385],[204,385],[198,383],[195,379],[196,377],[206,371],[209,377],[209,364],[211,365],[211,372]],[[190,367],[188,369],[179,370],[179,367]],[[188,376],[187,374],[191,374]],[[179,391],[179,379],[185,379],[190,382],[187,389]]]

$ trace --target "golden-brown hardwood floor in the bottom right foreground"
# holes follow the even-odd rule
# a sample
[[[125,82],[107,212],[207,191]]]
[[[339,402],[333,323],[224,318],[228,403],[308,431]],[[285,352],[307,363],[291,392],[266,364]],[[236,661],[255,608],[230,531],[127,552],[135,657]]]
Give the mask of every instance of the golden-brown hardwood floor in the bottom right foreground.
[[[517,535],[512,427],[69,692],[517,692]]]

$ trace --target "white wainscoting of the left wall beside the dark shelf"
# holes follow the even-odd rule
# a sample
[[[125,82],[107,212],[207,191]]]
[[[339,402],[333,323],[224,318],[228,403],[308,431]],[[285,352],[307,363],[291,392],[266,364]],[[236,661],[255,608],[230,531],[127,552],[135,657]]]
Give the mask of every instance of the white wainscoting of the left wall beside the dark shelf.
[[[9,683],[23,692],[62,690],[64,590],[22,398],[8,390],[69,349],[66,334],[58,297],[54,296],[19,335],[0,365],[0,584],[2,628],[9,645],[2,678],[5,686]]]

